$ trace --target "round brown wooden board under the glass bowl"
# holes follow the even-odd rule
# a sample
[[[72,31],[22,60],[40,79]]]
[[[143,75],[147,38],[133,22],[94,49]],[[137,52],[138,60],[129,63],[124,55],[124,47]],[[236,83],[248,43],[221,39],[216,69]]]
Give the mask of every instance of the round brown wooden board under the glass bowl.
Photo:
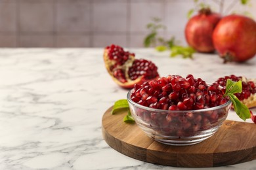
[[[137,124],[123,122],[126,111],[102,118],[102,135],[112,148],[137,160],[175,167],[217,167],[256,160],[256,124],[226,120],[202,143],[190,146],[161,144]]]

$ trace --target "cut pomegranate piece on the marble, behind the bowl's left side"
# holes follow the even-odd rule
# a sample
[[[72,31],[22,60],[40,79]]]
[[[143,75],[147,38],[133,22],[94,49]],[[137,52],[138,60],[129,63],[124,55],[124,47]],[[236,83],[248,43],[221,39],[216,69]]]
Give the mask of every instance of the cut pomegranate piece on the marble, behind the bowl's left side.
[[[122,88],[133,88],[148,80],[159,78],[158,67],[152,61],[135,59],[135,54],[125,52],[121,46],[110,45],[104,50],[106,69]]]

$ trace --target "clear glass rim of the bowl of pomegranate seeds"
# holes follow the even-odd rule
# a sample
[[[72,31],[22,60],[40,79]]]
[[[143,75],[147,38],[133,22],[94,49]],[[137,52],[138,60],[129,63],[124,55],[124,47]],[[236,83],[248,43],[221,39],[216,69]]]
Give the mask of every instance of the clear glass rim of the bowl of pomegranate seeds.
[[[128,103],[131,103],[133,105],[135,105],[136,107],[139,107],[140,109],[144,109],[144,110],[149,110],[152,112],[164,112],[164,113],[177,113],[177,112],[207,112],[207,111],[212,111],[212,110],[218,110],[218,109],[223,109],[224,107],[227,107],[228,105],[231,105],[232,101],[229,99],[226,103],[224,103],[223,105],[219,105],[217,107],[209,107],[207,109],[198,109],[198,110],[162,110],[162,109],[153,109],[150,107],[145,107],[142,105],[139,105],[138,103],[135,103],[134,101],[131,100],[131,92],[134,90],[131,89],[129,90],[129,92],[127,93],[127,101]]]

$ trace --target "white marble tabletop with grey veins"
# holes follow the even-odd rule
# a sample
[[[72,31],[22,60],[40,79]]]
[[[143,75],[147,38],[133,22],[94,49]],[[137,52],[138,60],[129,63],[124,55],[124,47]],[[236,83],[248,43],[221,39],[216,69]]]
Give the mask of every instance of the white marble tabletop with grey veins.
[[[230,74],[256,78],[256,58],[223,64],[217,55],[191,60],[129,50],[154,61],[161,76],[193,74],[207,82]],[[127,94],[108,76],[102,52],[0,49],[0,169],[180,169],[129,158],[102,139],[104,111]],[[228,119],[240,120],[232,111]],[[256,169],[256,160],[224,169]]]

